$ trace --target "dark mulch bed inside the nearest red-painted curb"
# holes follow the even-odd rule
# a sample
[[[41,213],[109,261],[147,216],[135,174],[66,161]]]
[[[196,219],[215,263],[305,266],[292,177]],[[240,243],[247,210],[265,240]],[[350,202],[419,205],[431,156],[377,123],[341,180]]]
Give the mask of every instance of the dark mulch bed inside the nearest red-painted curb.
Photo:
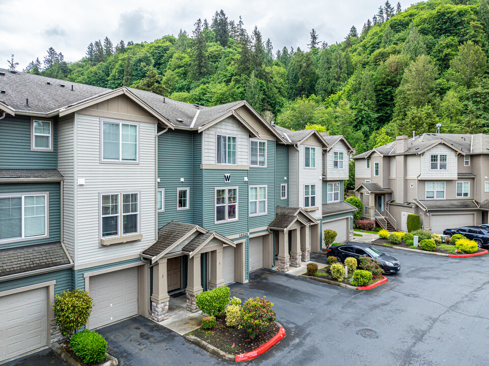
[[[237,355],[251,352],[270,341],[278,333],[279,326],[272,322],[265,331],[254,340],[248,339],[248,332],[238,327],[226,326],[225,316],[216,318],[213,329],[198,328],[190,334],[206,341],[229,354]],[[234,347],[233,347],[234,345]]]

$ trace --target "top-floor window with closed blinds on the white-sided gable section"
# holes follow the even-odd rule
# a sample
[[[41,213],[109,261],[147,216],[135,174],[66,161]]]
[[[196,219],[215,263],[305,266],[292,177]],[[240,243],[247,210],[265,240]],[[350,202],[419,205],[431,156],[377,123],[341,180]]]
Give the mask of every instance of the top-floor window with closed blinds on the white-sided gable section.
[[[137,162],[138,125],[117,121],[102,123],[102,161]]]

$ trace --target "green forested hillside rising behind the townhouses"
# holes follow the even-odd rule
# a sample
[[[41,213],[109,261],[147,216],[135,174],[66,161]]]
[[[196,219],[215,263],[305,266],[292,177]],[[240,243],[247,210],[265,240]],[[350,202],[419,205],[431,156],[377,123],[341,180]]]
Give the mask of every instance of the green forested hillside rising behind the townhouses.
[[[437,123],[444,133],[487,131],[487,1],[428,0],[404,11],[386,2],[341,43],[321,42],[312,29],[307,50],[274,50],[221,10],[191,34],[96,41],[74,63],[50,48],[26,71],[206,106],[246,99],[269,121],[343,134],[361,153]]]

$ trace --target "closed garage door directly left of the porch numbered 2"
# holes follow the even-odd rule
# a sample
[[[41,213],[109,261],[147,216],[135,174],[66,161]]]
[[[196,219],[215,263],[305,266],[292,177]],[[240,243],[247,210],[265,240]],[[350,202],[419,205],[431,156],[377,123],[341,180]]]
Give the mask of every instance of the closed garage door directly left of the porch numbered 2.
[[[91,329],[136,315],[136,267],[90,277],[89,293],[94,300]]]

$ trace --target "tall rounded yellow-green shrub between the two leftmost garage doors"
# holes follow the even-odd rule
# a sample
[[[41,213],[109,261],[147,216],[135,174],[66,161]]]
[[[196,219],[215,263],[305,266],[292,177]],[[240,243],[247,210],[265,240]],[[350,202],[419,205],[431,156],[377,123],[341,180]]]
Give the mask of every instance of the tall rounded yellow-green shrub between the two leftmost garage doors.
[[[61,334],[71,337],[76,329],[87,323],[92,313],[93,300],[87,291],[65,290],[54,296],[52,311]]]

